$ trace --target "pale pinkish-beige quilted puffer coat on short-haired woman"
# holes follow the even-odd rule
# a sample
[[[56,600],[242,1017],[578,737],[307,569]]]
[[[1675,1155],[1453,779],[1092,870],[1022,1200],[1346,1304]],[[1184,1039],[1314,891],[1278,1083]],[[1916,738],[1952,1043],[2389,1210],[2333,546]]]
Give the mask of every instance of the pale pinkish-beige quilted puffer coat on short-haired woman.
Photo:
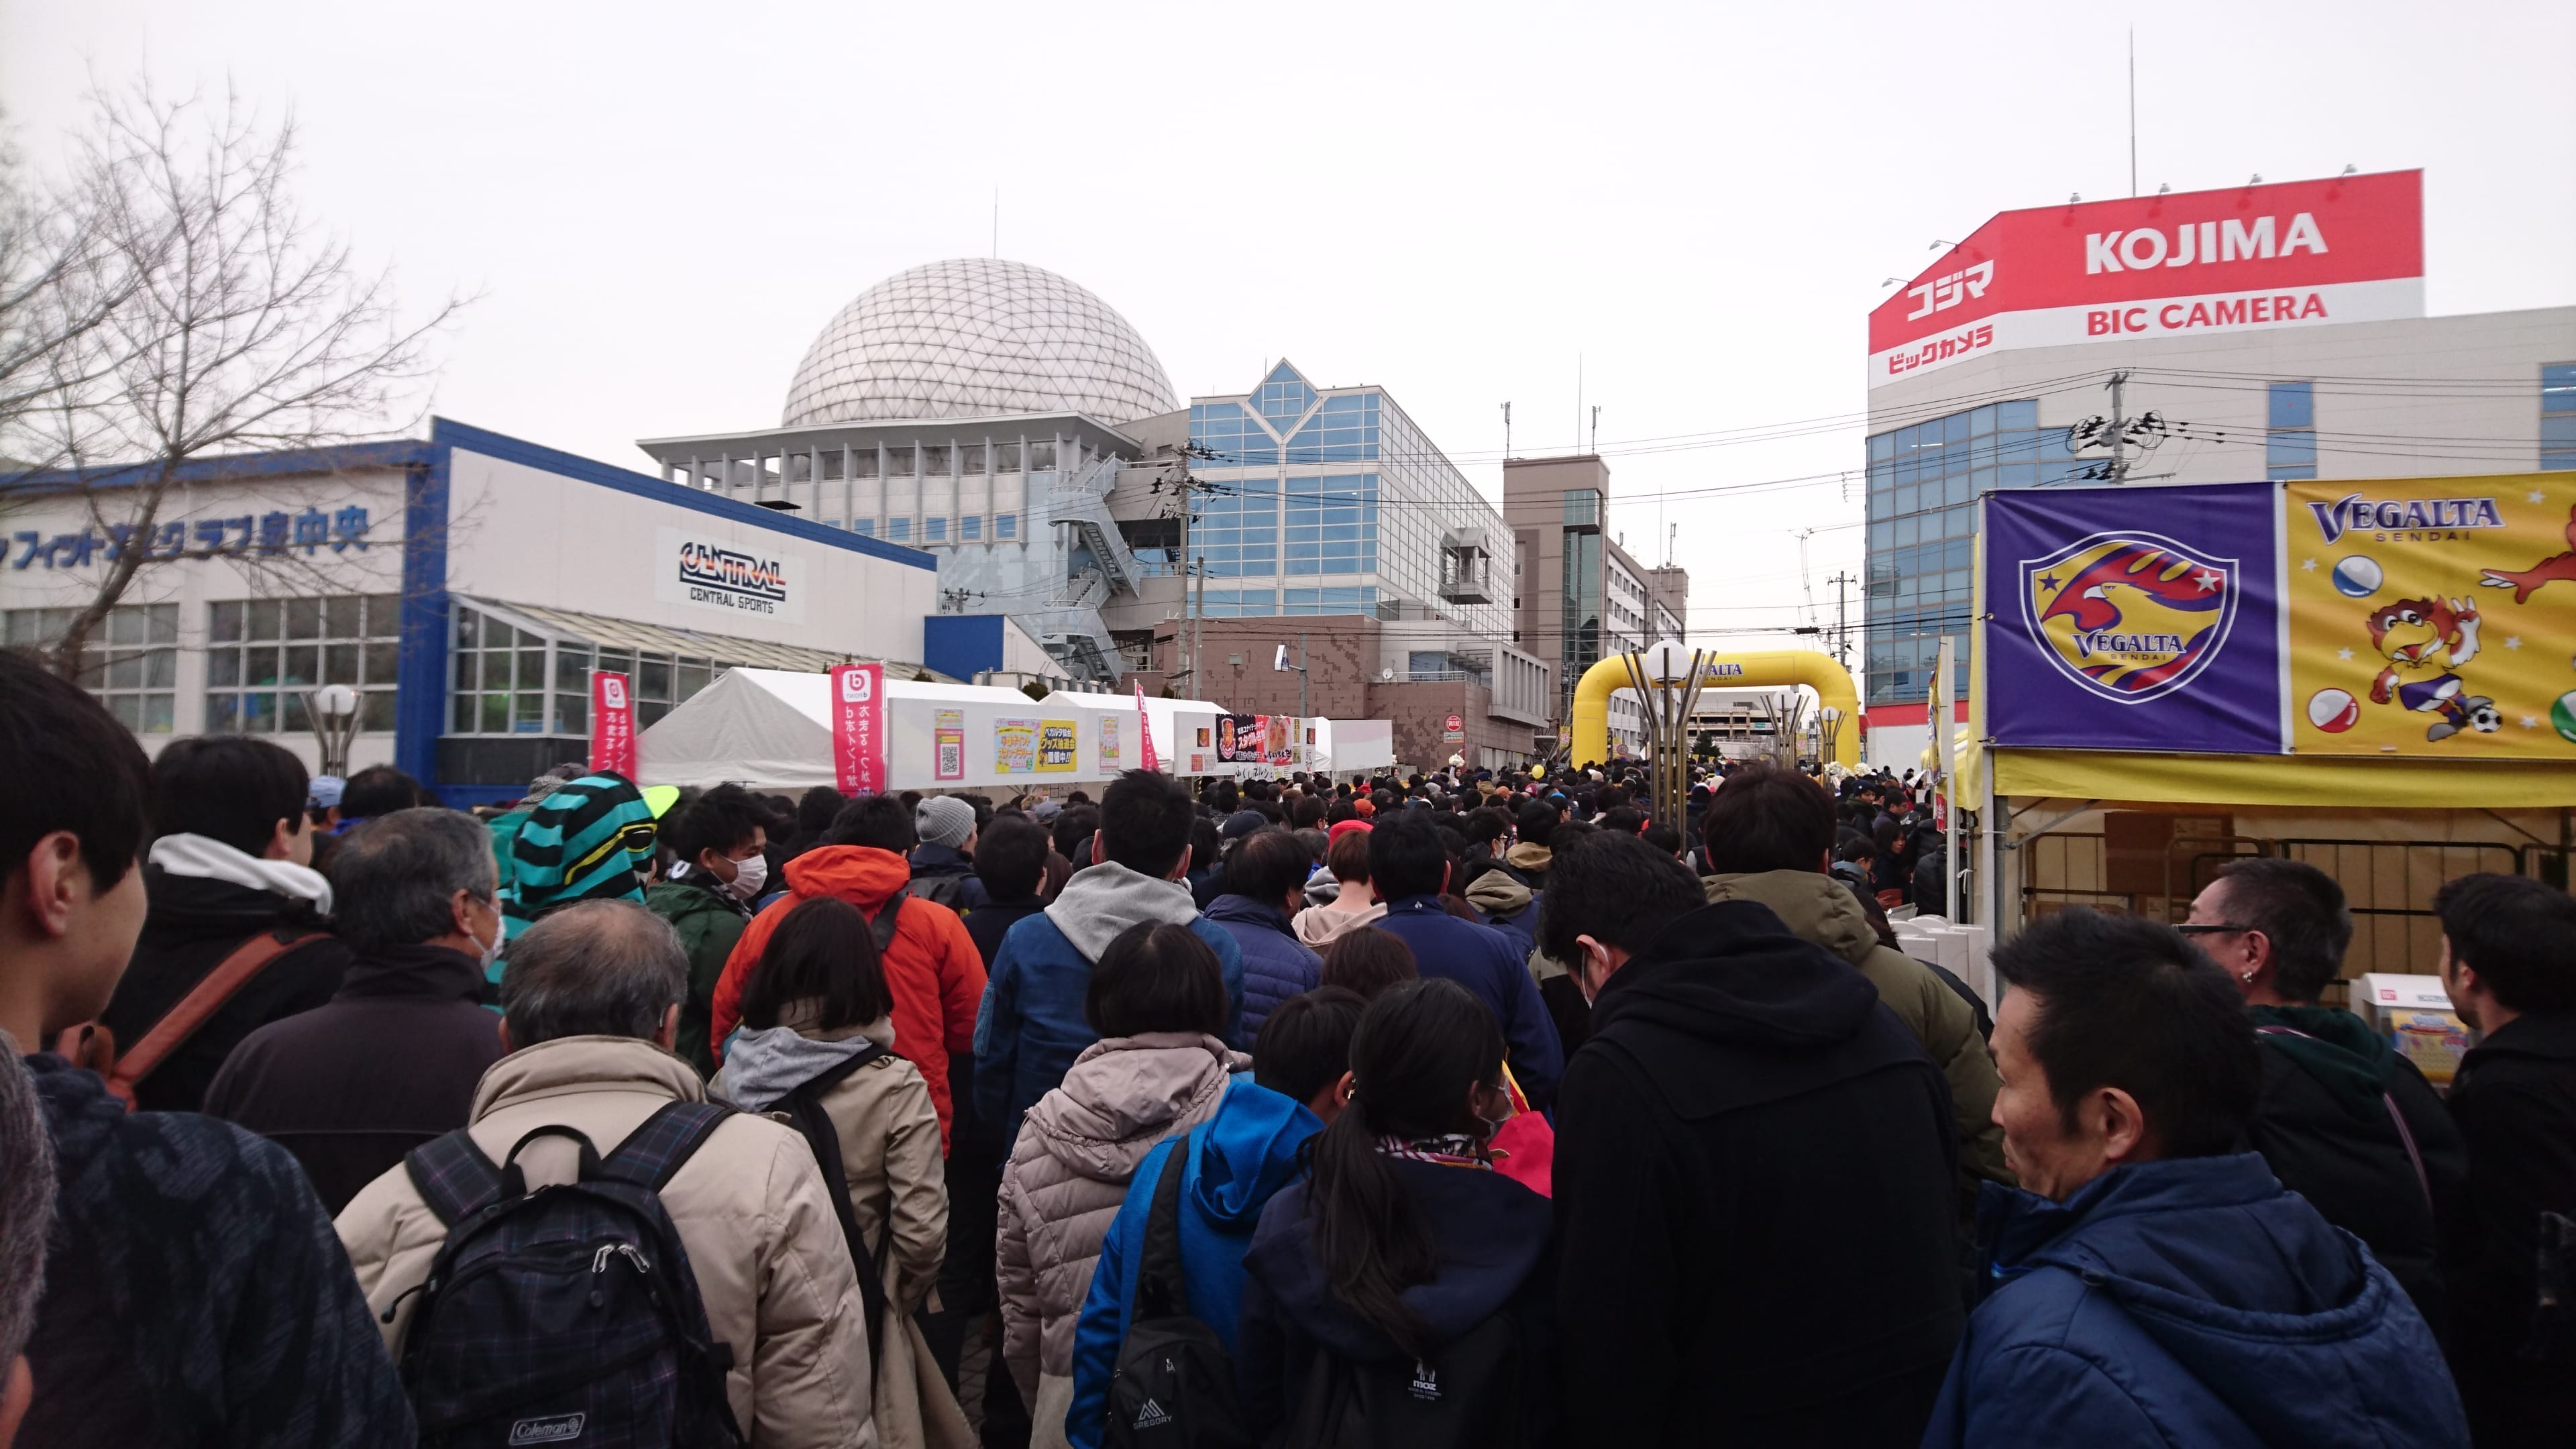
[[[1216,1036],[1110,1036],[1084,1047],[1064,1085],[1020,1119],[994,1256],[1002,1359],[1033,1403],[1041,1374],[1074,1372],[1074,1318],[1136,1165],[1154,1142],[1216,1116],[1226,1075],[1249,1067]]]

